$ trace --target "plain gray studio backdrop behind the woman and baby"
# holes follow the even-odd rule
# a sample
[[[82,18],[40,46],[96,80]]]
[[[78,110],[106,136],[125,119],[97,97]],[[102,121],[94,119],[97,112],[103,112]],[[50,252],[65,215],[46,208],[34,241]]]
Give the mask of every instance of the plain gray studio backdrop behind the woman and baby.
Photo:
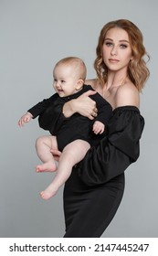
[[[126,188],[115,218],[103,237],[157,237],[157,0],[0,0],[1,171],[0,237],[62,237],[62,188],[48,201],[38,193],[52,175],[36,174],[37,120],[20,129],[17,121],[52,91],[58,59],[84,59],[88,78],[105,23],[128,18],[141,28],[151,55],[151,77],[142,93],[146,125],[141,156],[126,171]]]

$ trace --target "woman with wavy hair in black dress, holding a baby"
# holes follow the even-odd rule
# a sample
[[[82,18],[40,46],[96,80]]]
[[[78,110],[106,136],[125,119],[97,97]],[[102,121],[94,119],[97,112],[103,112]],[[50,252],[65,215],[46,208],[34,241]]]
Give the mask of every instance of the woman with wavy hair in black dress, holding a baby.
[[[86,83],[111,103],[113,111],[108,135],[90,148],[65,185],[65,238],[101,236],[121,203],[124,171],[140,154],[140,92],[149,77],[142,32],[129,20],[111,21],[100,31],[96,52],[97,79]],[[75,112],[94,118],[97,108],[90,93],[68,101],[60,118]]]

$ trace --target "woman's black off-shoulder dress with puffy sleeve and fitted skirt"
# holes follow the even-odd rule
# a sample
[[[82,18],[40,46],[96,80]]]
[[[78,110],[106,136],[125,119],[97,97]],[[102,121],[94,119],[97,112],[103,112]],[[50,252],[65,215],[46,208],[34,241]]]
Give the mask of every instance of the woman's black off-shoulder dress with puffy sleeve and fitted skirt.
[[[65,238],[97,238],[108,227],[124,190],[124,171],[140,155],[144,119],[134,106],[112,112],[108,134],[73,168],[64,188]]]

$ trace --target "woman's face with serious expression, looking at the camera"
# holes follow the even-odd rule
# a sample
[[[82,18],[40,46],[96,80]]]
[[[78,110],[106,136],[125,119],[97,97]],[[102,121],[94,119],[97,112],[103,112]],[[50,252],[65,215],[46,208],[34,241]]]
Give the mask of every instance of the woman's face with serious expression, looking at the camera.
[[[120,27],[108,30],[102,46],[102,59],[108,69],[127,69],[132,59],[132,48],[127,32]]]

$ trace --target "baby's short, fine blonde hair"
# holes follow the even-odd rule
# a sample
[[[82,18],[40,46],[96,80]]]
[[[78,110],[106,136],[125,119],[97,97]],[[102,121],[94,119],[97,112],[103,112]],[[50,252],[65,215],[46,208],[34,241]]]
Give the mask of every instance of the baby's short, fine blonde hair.
[[[86,65],[82,59],[79,59],[78,57],[67,57],[64,59],[60,59],[56,63],[54,70],[59,65],[72,66],[74,68],[74,71],[76,72],[76,74],[79,76],[79,79],[83,80],[83,81],[86,80],[87,69],[86,69]]]

